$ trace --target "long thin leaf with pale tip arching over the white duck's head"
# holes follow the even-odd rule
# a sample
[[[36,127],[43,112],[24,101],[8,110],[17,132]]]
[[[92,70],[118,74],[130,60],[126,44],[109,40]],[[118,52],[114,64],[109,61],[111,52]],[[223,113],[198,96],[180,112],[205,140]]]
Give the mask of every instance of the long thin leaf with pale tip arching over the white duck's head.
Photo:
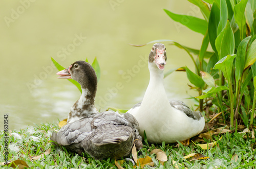
[[[136,46],[136,47],[141,47],[141,46],[145,46],[145,45],[147,45],[147,44],[159,43],[159,42],[173,42],[173,44],[176,45],[177,47],[179,47],[179,48],[181,48],[181,49],[184,49],[184,50],[187,50],[187,51],[189,51],[189,52],[191,52],[191,53],[194,53],[195,55],[199,55],[199,52],[200,52],[199,50],[192,49],[192,48],[187,47],[187,46],[184,46],[184,45],[182,45],[182,44],[180,44],[180,43],[178,43],[178,42],[176,42],[176,41],[174,41],[174,40],[168,40],[168,39],[153,40],[153,41],[150,41],[150,42],[145,43],[145,44],[131,44],[131,43],[130,43],[130,45]],[[207,51],[206,51],[206,53],[205,53],[205,55],[204,55],[204,58],[210,58],[212,54],[214,54],[214,53],[212,53],[212,52],[207,52]]]

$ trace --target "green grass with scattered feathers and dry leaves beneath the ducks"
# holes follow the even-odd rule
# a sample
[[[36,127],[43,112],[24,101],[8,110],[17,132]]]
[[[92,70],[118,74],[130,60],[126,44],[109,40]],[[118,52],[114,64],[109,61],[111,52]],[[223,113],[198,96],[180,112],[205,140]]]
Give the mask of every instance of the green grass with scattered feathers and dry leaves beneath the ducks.
[[[94,160],[87,154],[83,154],[83,157],[74,153],[68,152],[58,147],[51,145],[49,141],[50,135],[53,131],[53,126],[58,129],[57,125],[53,124],[41,124],[29,126],[26,129],[20,131],[11,131],[9,134],[9,160],[21,159],[26,161],[28,166],[32,168],[117,168],[114,163],[114,159],[106,160]],[[16,133],[16,134],[14,134]],[[4,162],[4,133],[1,131],[1,162]],[[220,136],[214,136],[214,140],[218,140]],[[30,157],[38,156],[46,152],[51,148],[51,153],[45,155],[41,159],[32,160]],[[156,159],[156,155],[150,155],[148,149],[153,150],[159,148],[163,150],[168,161],[162,166]],[[143,158],[145,155],[152,157],[155,162],[156,168],[174,168],[173,160],[182,164],[180,168],[256,168],[256,142],[254,138],[251,138],[251,133],[226,133],[223,134],[221,140],[218,141],[218,146],[210,148],[210,150],[202,150],[194,143],[190,143],[189,146],[176,147],[176,144],[152,144],[147,146],[144,144],[144,148],[141,150],[141,155],[138,158]],[[209,159],[189,161],[183,159],[190,153],[201,153],[208,156]],[[234,154],[238,155],[237,161],[231,160]],[[130,158],[132,158],[130,156]],[[124,168],[133,168],[132,163],[124,163]],[[1,166],[1,168],[8,168],[8,166]],[[144,168],[151,168],[146,166]]]

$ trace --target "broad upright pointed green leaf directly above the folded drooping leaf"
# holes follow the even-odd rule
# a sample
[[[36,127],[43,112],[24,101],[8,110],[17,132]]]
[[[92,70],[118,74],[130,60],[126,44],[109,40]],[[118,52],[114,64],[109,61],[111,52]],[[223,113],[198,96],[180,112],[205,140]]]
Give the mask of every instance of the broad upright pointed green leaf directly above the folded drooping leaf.
[[[234,34],[228,20],[226,27],[217,37],[215,46],[219,54],[219,59],[234,53]]]

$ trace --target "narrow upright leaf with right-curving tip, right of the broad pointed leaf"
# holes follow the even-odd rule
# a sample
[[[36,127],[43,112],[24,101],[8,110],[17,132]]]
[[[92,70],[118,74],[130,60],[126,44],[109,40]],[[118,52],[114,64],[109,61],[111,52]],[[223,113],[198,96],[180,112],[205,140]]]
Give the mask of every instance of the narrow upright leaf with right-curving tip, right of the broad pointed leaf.
[[[242,74],[244,71],[245,53],[246,53],[247,45],[250,38],[251,36],[246,37],[240,42],[238,46],[237,57],[236,57],[236,72],[235,72],[237,82],[242,77]]]

